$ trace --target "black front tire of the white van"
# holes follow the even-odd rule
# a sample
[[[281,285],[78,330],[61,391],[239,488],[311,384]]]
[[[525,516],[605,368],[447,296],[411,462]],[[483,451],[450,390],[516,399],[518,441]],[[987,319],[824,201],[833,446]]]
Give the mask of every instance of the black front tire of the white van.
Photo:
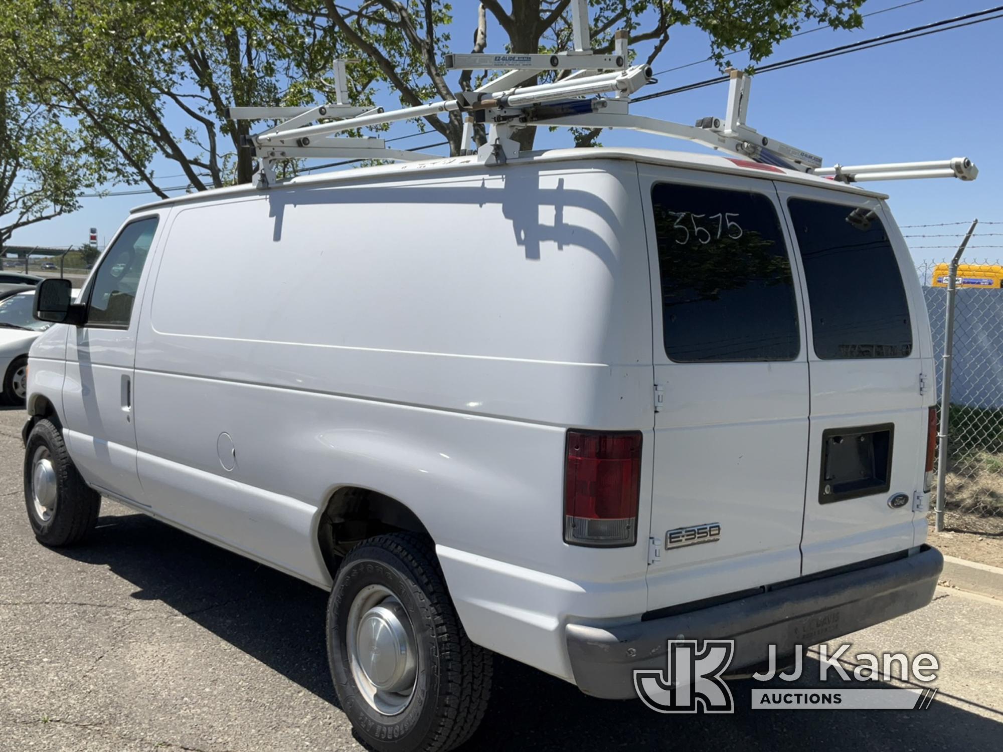
[[[51,506],[42,507],[45,513],[39,512],[34,498],[32,475],[38,456],[49,460],[55,480],[54,500]],[[39,420],[28,434],[24,447],[24,502],[35,538],[45,545],[78,543],[97,523],[101,496],[80,477],[62,434],[50,420]]]

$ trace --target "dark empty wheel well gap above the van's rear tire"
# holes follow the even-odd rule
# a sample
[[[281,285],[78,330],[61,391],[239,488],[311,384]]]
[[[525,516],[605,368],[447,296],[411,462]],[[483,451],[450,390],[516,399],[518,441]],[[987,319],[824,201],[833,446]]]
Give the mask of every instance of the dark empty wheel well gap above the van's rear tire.
[[[345,486],[328,500],[317,530],[317,541],[333,578],[338,559],[357,543],[396,530],[417,532],[431,539],[417,515],[397,499],[368,488]]]

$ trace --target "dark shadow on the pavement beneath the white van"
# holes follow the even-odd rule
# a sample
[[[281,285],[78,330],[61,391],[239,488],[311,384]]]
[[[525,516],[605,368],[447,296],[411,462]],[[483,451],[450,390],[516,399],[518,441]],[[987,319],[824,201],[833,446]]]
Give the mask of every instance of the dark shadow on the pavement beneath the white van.
[[[90,543],[60,552],[108,567],[138,588],[133,598],[163,602],[337,704],[324,648],[324,592],[142,514],[101,517]],[[302,638],[289,640],[289,635]],[[804,676],[814,681],[797,684],[817,686],[813,661],[805,662]],[[941,702],[927,711],[753,712],[748,710],[753,684],[731,684],[734,715],[663,716],[640,702],[586,697],[561,680],[499,658],[487,716],[465,749],[858,752],[922,747],[975,752],[1001,748],[1003,713],[992,720]],[[984,706],[999,700],[965,699]]]

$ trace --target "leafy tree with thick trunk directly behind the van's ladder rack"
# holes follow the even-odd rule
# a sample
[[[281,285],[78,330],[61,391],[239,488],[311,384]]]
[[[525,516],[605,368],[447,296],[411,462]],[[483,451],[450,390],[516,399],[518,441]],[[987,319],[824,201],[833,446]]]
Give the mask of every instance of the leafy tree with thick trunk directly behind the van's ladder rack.
[[[508,35],[504,43],[508,51],[553,53],[573,46],[570,0],[483,0],[479,18],[472,12],[472,2],[462,4],[471,11],[469,16],[456,16],[443,0],[287,1],[291,10],[312,19],[311,28],[319,39],[327,39],[328,49],[339,57],[359,58],[353,73],[395,89],[404,106],[433,97],[451,99],[455,90],[475,85],[469,74],[450,85],[442,55],[449,51],[450,28],[473,28],[472,49],[483,51],[485,13]],[[668,42],[672,27],[692,24],[708,34],[710,55],[723,68],[730,64],[727,50],[748,48],[755,63],[808,21],[858,28],[862,18],[857,9],[863,0],[589,0],[589,4],[597,52],[611,52],[615,32],[625,29],[631,44],[651,43],[647,56],[651,63]],[[465,146],[460,143],[460,113],[426,121],[446,137],[453,153]],[[580,130],[577,141],[592,143],[598,132]],[[529,148],[535,135],[536,128],[524,128],[518,138]]]

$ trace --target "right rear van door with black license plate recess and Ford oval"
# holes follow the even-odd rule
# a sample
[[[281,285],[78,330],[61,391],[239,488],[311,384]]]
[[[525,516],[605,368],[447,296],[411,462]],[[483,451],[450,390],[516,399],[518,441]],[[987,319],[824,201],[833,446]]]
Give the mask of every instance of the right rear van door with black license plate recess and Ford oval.
[[[810,432],[802,573],[913,545],[928,413],[928,325],[905,243],[882,203],[776,183],[807,331]],[[922,326],[921,326],[922,324]]]

